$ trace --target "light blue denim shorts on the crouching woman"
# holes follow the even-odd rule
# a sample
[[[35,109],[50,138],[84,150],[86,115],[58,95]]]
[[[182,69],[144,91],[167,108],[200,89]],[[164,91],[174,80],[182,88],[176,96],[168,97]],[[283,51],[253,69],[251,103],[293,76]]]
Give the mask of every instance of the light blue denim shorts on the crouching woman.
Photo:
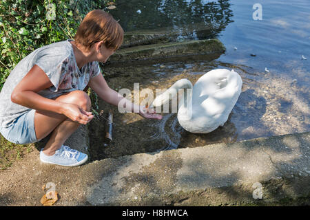
[[[0,133],[6,140],[15,144],[30,144],[38,142],[36,131],[34,130],[34,113],[32,109],[19,116],[10,126],[0,128]]]

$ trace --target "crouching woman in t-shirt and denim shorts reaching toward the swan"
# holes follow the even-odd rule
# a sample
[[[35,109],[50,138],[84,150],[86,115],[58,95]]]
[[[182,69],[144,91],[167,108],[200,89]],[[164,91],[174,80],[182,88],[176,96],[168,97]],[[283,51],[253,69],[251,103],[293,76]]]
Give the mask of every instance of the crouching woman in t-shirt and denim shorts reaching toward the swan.
[[[144,118],[161,119],[123,98],[107,85],[99,63],[105,63],[123,43],[123,29],[103,10],[89,12],[73,40],[45,45],[23,58],[0,93],[0,133],[10,142],[28,144],[50,135],[41,162],[78,166],[87,155],[65,146],[65,140],[94,118],[87,87],[105,102]],[[125,99],[125,100],[123,100]]]

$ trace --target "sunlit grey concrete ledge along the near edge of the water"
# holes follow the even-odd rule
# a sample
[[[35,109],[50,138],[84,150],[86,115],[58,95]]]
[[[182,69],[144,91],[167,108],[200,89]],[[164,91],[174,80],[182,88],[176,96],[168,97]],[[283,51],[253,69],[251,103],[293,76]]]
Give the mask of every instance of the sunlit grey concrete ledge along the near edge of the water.
[[[310,133],[299,133],[103,159],[83,170],[101,167],[86,200],[94,206],[309,204],[309,142]],[[262,199],[253,198],[257,182]]]

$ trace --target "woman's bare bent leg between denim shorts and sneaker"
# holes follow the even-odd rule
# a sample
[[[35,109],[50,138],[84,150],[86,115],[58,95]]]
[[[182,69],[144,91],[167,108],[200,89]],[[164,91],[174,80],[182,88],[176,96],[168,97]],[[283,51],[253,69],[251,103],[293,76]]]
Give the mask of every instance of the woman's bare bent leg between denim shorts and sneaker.
[[[85,111],[90,111],[90,97],[84,91],[72,91],[55,98],[55,100],[78,104]],[[73,122],[65,115],[51,111],[36,111],[34,114],[34,127],[37,138],[42,139],[52,132],[50,140],[43,148],[45,155],[53,155],[80,125],[79,122]]]

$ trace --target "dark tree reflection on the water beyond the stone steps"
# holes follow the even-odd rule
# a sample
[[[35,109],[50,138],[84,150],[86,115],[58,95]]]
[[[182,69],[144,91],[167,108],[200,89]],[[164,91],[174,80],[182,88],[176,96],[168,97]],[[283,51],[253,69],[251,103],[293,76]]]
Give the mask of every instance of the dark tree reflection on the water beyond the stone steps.
[[[180,33],[179,38],[206,39],[215,37],[231,20],[228,0],[161,0],[117,1],[115,10],[109,12],[125,30],[150,30],[167,28]]]

